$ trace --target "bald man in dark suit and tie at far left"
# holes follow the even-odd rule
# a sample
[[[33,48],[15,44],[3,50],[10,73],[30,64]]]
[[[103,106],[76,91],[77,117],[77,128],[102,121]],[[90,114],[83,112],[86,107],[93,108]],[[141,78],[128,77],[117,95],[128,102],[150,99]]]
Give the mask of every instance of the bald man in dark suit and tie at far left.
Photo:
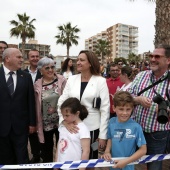
[[[0,164],[25,164],[29,163],[28,135],[36,130],[33,83],[31,75],[21,71],[23,58],[18,49],[7,48],[2,58],[4,64],[0,68]]]

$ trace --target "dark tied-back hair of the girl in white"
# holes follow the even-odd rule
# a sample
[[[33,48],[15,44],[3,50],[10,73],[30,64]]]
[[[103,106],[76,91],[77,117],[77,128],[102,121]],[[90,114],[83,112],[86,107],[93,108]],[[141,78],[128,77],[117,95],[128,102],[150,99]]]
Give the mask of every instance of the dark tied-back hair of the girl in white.
[[[76,114],[77,111],[80,111],[79,118],[81,120],[84,120],[88,115],[86,107],[81,105],[80,101],[75,97],[66,99],[61,105],[61,110],[64,108],[69,108],[71,114]]]

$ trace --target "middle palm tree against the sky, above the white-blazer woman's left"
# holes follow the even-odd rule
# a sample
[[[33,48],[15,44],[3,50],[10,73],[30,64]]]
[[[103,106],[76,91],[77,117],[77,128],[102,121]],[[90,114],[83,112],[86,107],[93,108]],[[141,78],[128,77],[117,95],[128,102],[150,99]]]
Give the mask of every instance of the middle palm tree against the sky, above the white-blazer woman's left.
[[[56,43],[66,45],[67,57],[69,57],[69,50],[72,44],[78,45],[77,39],[79,38],[79,36],[77,36],[76,34],[80,32],[80,29],[77,28],[77,25],[72,27],[70,22],[60,25],[57,28],[59,30],[59,33],[55,36],[55,38],[57,38]]]

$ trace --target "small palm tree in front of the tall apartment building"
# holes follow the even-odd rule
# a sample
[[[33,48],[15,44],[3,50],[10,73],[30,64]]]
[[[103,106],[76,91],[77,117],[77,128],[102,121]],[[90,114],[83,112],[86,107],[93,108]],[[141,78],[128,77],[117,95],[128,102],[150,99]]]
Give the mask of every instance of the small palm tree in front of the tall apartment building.
[[[109,55],[111,53],[109,41],[99,39],[95,46],[95,53],[101,56],[101,63],[102,63],[104,56]]]

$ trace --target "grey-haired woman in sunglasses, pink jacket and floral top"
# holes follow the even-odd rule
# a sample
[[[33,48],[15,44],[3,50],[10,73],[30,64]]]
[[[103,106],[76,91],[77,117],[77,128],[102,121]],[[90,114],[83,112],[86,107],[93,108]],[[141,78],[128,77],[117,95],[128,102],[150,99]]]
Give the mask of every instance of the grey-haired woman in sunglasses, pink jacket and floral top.
[[[56,74],[54,61],[44,57],[37,64],[42,78],[34,84],[37,132],[42,145],[43,162],[53,162],[53,135],[56,143],[58,141],[57,102],[65,87],[66,80],[63,76]]]

